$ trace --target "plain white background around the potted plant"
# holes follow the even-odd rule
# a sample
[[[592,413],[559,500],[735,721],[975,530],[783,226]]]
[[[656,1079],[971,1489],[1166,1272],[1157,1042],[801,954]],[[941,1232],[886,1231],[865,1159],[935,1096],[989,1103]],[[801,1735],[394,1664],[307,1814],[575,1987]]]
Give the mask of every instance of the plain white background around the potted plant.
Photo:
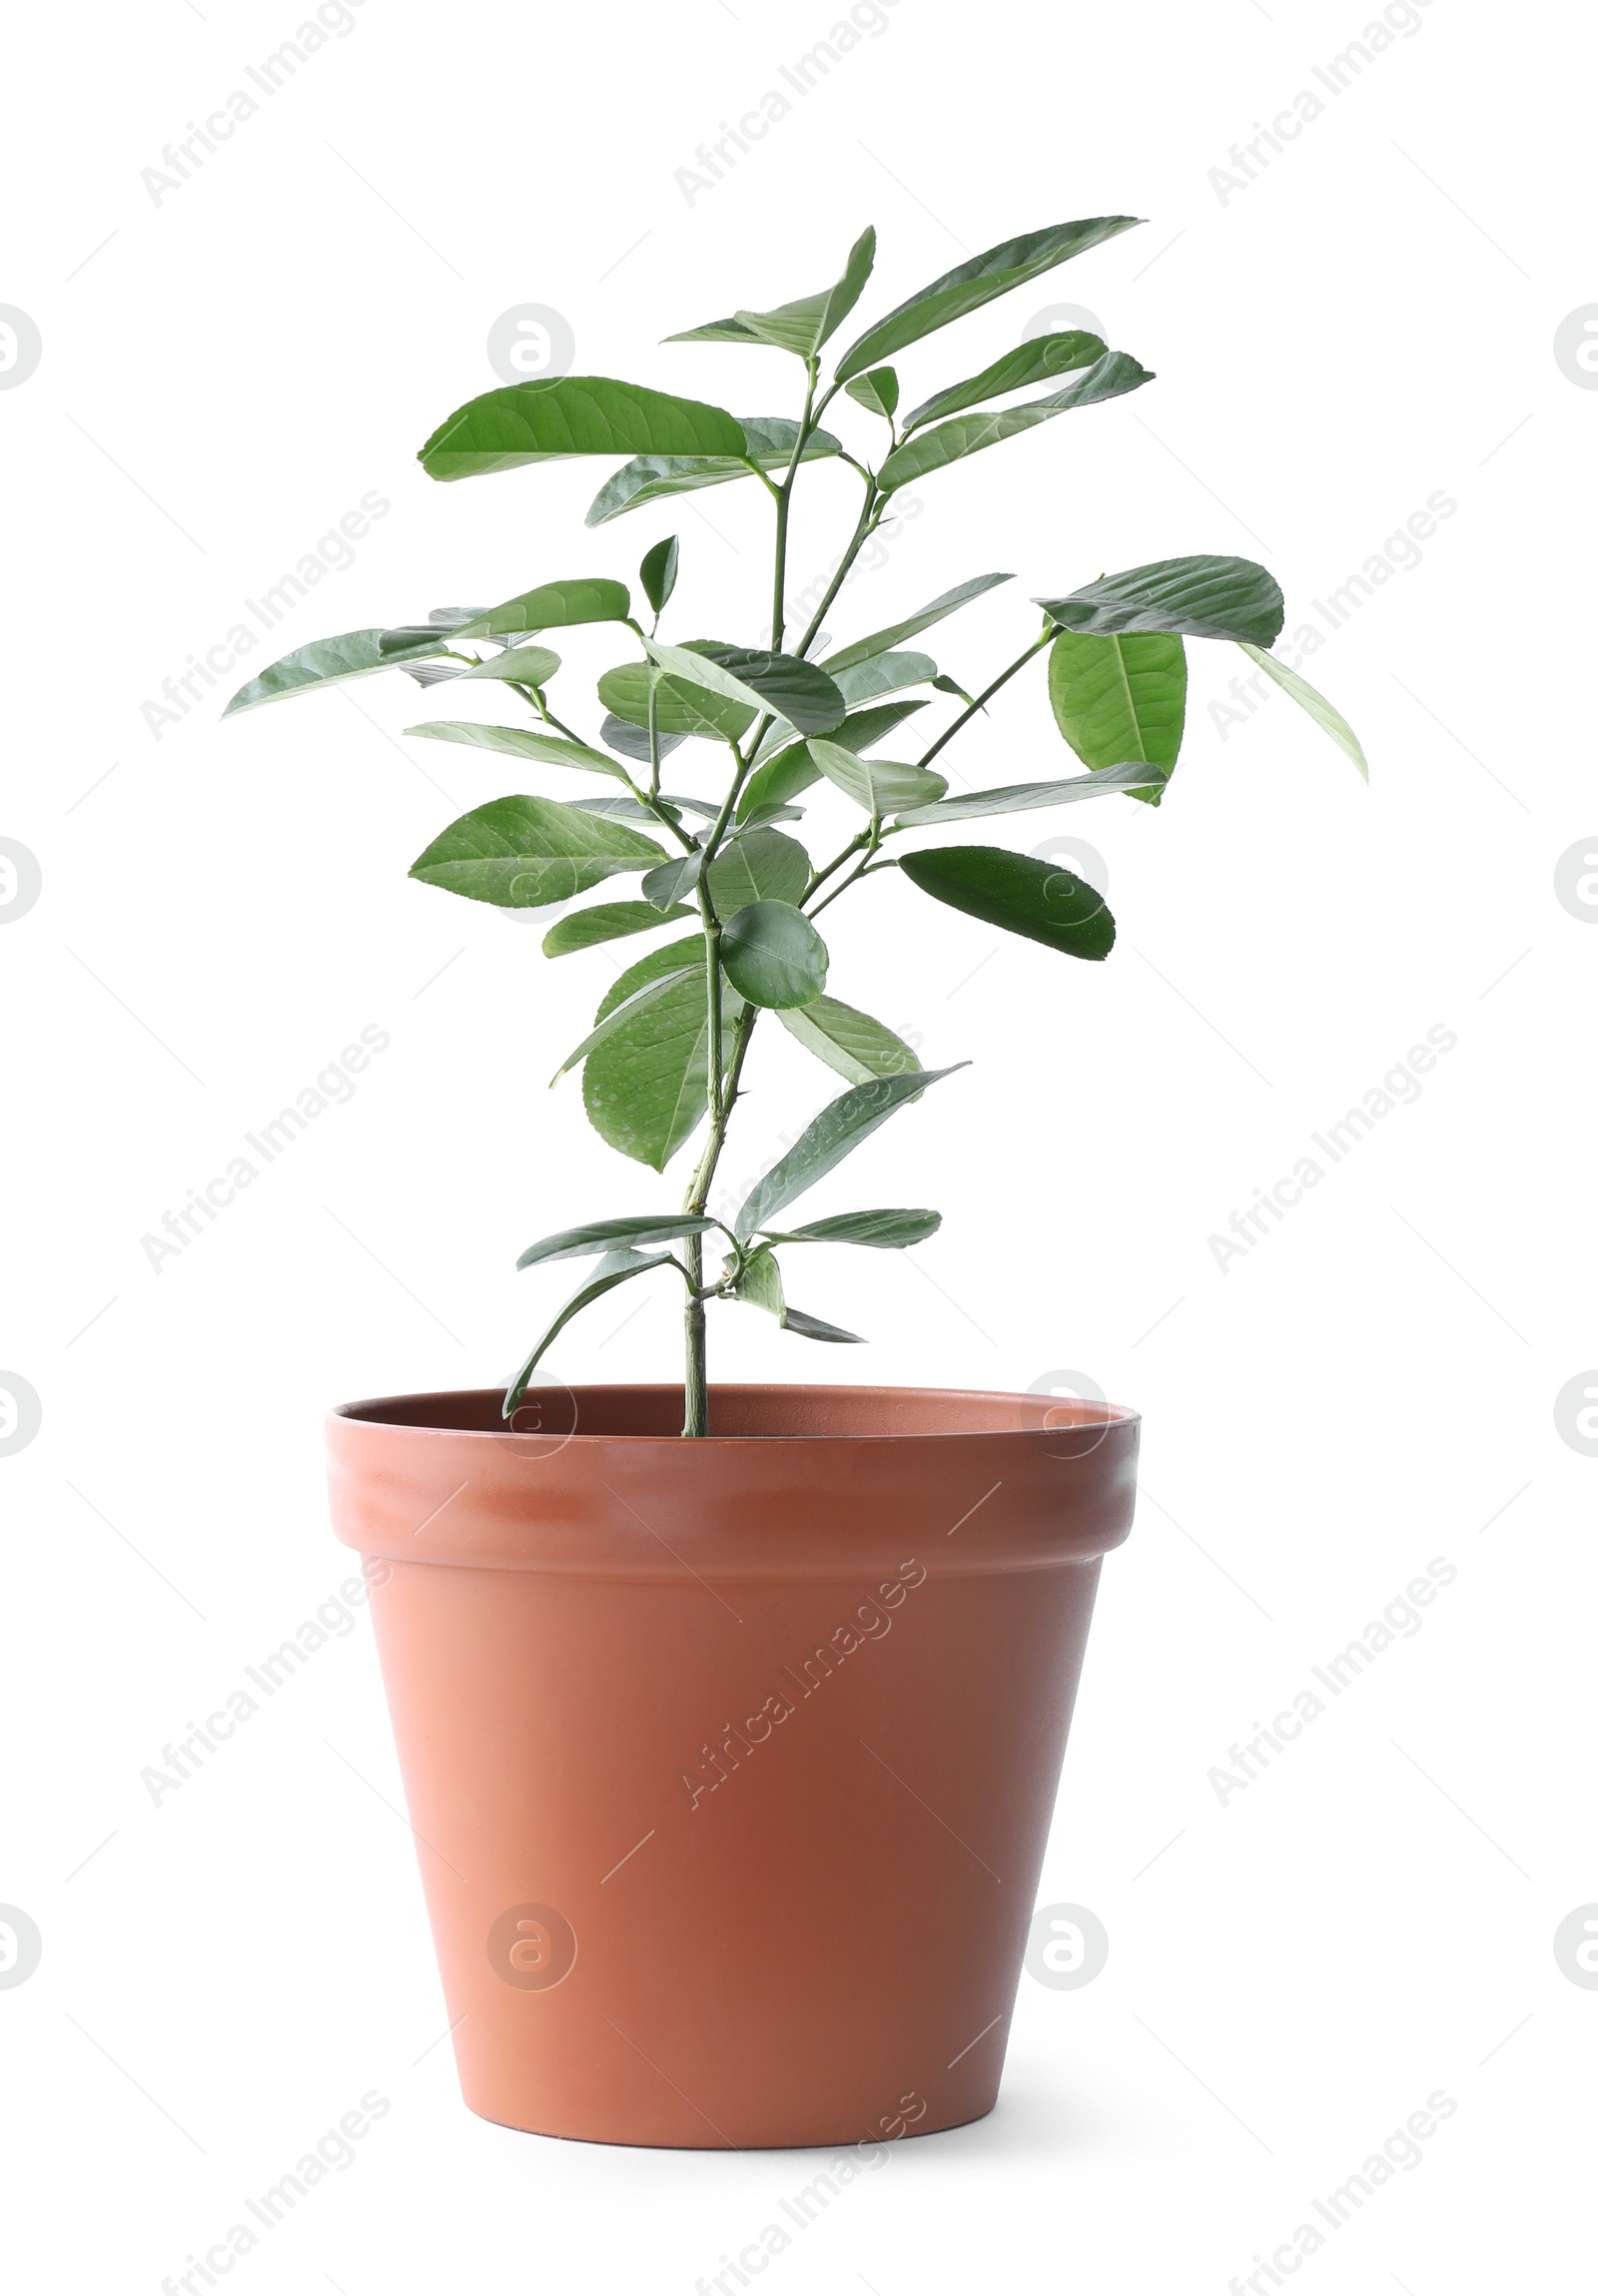
[[[0,1991],[18,2287],[154,2296],[367,2089],[388,2115],[236,2266],[246,2296],[689,2291],[822,2165],[464,2112],[365,1619],[158,1807],[140,1784],[349,1575],[321,1410],[498,1378],[558,1290],[514,1254],[680,1187],[595,1143],[574,1079],[544,1088],[611,953],[549,967],[537,925],[406,882],[455,810],[517,785],[397,739],[448,709],[395,675],[220,730],[223,677],[154,739],[140,705],[370,489],[388,517],[246,670],[542,579],[631,579],[673,526],[675,634],[760,638],[753,487],[585,533],[608,466],[420,475],[420,441],[496,381],[494,319],[542,303],[576,372],[794,411],[783,354],[659,338],[824,285],[868,220],[861,319],[962,253],[1104,211],[1150,223],[905,354],[907,390],[1054,303],[1159,381],[918,487],[840,638],[1010,567],[925,641],[973,684],[1031,595],[1185,551],[1265,558],[1293,629],[1428,496],[1458,507],[1304,664],[1359,726],[1368,790],[1279,693],[1217,726],[1242,657],[1194,645],[1164,808],[1022,820],[1015,843],[1058,829],[1104,856],[1109,964],[1001,941],[891,875],[831,912],[836,992],[976,1065],[815,1199],[946,1215],[914,1256],[813,1256],[801,1304],[872,1339],[822,1375],[1075,1366],[1146,1412],[1146,1499],[1104,1570],[1042,1878],[1100,1915],[1109,1965],[1084,1991],[1022,1979],[999,2110],[895,2147],[771,2287],[1221,2291],[1435,2089],[1458,2110],[1421,2165],[1304,2285],[1573,2285],[1587,2250],[1598,1998],[1552,1954],[1598,1899],[1598,1460],[1554,1424],[1598,1362],[1598,932],[1554,895],[1598,829],[1598,397],[1552,347],[1598,298],[1584,28],[1430,0],[1329,96],[1311,67],[1359,37],[1355,5],[895,0],[689,200],[696,145],[833,21],[365,0],[158,204],[140,170],[253,85],[294,7],[14,28],[0,301],[44,342],[0,393],[0,833],[44,872],[0,934],[0,1364],[44,1407],[0,1460],[0,1901],[44,1938]],[[1300,90],[1322,115],[1217,188]],[[799,585],[852,489],[836,468],[806,487]],[[618,659],[604,634],[560,652],[576,696]],[[1070,769],[1042,677],[953,762],[976,785]],[[140,1238],[363,1024],[393,1042],[356,1097],[152,1270]],[[1437,1024],[1458,1045],[1421,1097],[1221,1270],[1208,1238]],[[829,1097],[788,1040],[753,1084],[739,1178]],[[673,1375],[664,1293],[618,1325],[576,1327],[565,1378]],[[723,1313],[714,1348],[723,1375],[817,1375],[753,1313]],[[1433,1557],[1458,1575],[1424,1628],[1221,1802],[1233,1740]]]

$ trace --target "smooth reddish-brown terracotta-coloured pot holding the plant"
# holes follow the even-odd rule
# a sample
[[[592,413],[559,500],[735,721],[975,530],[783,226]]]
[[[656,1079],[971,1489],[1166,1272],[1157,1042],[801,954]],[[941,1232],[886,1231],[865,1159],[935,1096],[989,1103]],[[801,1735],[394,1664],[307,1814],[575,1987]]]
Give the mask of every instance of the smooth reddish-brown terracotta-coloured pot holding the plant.
[[[686,2147],[992,2110],[1137,1414],[714,1387],[684,1442],[675,1387],[498,1407],[328,1421],[471,2110]]]

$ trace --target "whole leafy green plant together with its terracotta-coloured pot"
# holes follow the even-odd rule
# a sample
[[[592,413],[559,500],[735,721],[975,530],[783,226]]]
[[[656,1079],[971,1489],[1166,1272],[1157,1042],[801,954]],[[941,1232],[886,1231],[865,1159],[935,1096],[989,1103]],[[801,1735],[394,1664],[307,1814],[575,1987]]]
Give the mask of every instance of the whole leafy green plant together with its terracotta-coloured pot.
[[[374,1582],[464,2096],[517,2128],[875,2144],[951,2128],[996,2096],[1100,1559],[1132,1520],[1137,1414],[1049,1396],[712,1387],[707,1325],[744,1302],[797,1339],[850,1345],[852,1332],[788,1300],[790,1279],[815,1297],[794,1277],[808,1247],[898,1251],[939,1226],[923,1208],[806,1219],[801,1205],[953,1075],[831,994],[822,921],[836,900],[893,868],[1054,955],[1107,957],[1116,928],[1091,884],[971,843],[969,824],[1114,792],[1157,806],[1182,739],[1187,638],[1242,645],[1364,771],[1341,716],[1270,652],[1281,592],[1242,558],[1171,558],[1042,597],[976,696],[918,641],[1008,574],[815,657],[902,487],[1150,381],[1097,335],[1063,331],[900,411],[893,360],[1134,220],[990,248],[868,326],[827,374],[872,232],[822,294],[673,338],[792,354],[797,416],[735,418],[563,374],[471,400],[420,450],[436,480],[602,457],[615,468],[590,526],[751,480],[774,510],[769,643],[661,636],[680,565],[661,537],[638,567],[641,604],[613,576],[540,581],[487,611],[298,647],[227,705],[386,668],[448,684],[457,707],[468,684],[514,705],[510,726],[457,714],[411,728],[514,758],[537,792],[464,813],[411,875],[558,909],[544,937],[556,962],[647,937],[558,1075],[581,1068],[588,1116],[625,1157],[664,1173],[689,1150],[680,1208],[567,1226],[521,1254],[521,1267],[574,1261],[583,1274],[503,1396],[390,1396],[331,1417],[333,1520]],[[817,459],[847,464],[861,501],[824,599],[794,627],[788,519]],[[627,659],[599,680],[595,723],[556,687],[549,641],[604,622]],[[1079,769],[951,794],[944,751],[1029,664],[1040,680],[1047,668]],[[583,781],[602,794],[556,794]],[[836,850],[806,845],[806,808],[822,833],[829,813],[847,815]],[[634,879],[629,898],[583,900],[615,877]],[[843,1091],[721,1217],[716,1171],[767,1015]],[[680,1286],[680,1384],[535,1384],[565,1325],[638,1281]]]

